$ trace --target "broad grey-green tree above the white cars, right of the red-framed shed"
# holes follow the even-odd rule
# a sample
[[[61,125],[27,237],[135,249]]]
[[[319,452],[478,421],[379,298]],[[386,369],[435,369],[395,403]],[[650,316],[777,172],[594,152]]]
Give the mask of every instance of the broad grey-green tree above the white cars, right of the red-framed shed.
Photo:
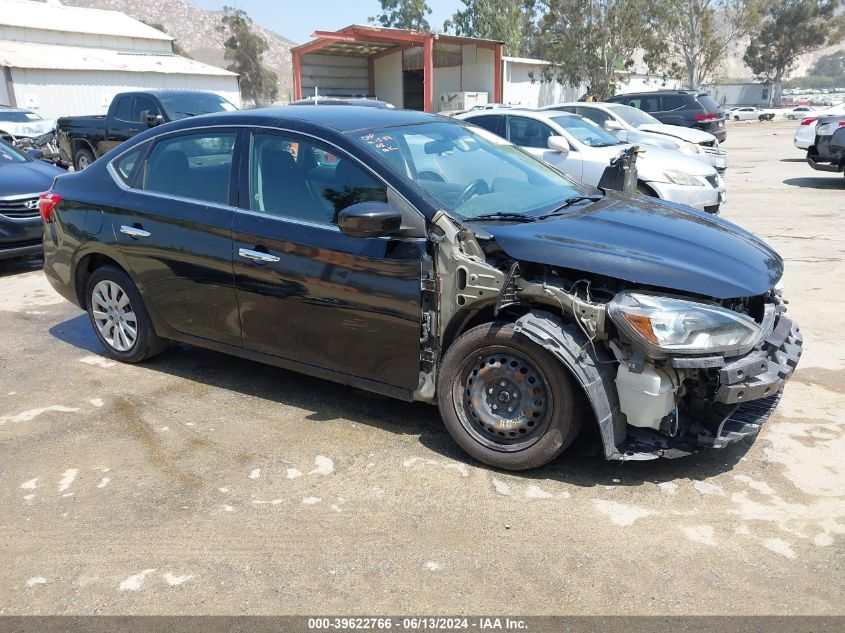
[[[539,0],[544,79],[586,83],[596,100],[614,94],[636,55],[656,45],[655,0]],[[647,59],[653,56],[647,55]]]

